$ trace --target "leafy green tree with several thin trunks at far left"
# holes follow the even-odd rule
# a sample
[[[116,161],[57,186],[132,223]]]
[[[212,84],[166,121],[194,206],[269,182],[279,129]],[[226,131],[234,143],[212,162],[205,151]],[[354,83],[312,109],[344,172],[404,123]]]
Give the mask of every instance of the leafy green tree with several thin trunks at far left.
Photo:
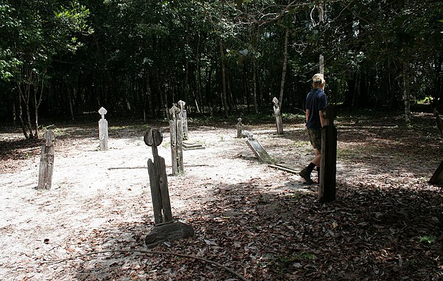
[[[18,1],[3,3],[3,17],[10,19],[8,34],[0,42],[10,55],[10,71],[3,78],[17,84],[18,117],[26,138],[38,138],[38,109],[48,67],[53,57],[75,51],[75,33],[87,30],[88,10],[76,1]]]

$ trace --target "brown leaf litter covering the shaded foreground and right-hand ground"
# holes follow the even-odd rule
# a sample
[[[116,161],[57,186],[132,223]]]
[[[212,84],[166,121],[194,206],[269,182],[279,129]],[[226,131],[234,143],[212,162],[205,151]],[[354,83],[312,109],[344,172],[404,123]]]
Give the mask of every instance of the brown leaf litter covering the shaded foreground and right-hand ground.
[[[332,203],[318,203],[318,185],[273,190],[254,177],[213,185],[212,197],[195,196],[174,214],[194,237],[147,253],[150,215],[109,221],[66,242],[87,255],[72,251],[59,262],[75,280],[442,280],[443,190],[427,183],[443,160],[442,140],[430,116],[417,114],[412,127],[401,116],[338,118],[342,168]],[[287,136],[296,141],[300,132]],[[60,269],[53,262],[49,269]]]

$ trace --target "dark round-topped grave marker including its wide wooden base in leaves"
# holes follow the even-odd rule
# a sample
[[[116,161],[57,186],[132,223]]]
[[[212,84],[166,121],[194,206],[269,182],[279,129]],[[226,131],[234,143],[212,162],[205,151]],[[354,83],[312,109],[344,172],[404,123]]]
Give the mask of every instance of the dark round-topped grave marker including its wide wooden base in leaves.
[[[163,134],[158,129],[148,129],[144,136],[145,144],[152,147],[154,161],[148,159],[147,170],[150,175],[152,206],[155,226],[145,237],[148,248],[194,235],[192,226],[172,220],[171,203],[168,191],[165,158],[159,156],[157,147],[163,141]]]

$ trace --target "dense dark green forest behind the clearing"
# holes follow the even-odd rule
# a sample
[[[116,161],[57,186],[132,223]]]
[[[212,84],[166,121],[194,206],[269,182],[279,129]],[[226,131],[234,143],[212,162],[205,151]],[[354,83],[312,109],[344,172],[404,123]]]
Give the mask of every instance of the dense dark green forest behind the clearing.
[[[3,0],[0,116],[38,137],[38,117],[105,107],[140,118],[303,107],[324,60],[329,102],[443,105],[443,1]]]

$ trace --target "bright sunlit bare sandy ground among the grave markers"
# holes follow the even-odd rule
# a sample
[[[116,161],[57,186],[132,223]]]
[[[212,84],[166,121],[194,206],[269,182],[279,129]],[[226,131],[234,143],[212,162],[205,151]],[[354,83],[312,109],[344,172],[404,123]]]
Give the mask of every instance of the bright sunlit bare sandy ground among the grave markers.
[[[296,154],[291,149],[278,149],[291,147],[291,141],[274,138],[274,131],[254,132],[271,156],[287,163],[294,163],[295,158],[300,161],[300,156],[308,160],[309,145],[296,149]],[[266,192],[306,188],[295,174],[259,163],[245,140],[235,134],[235,129],[215,127],[190,132],[190,139],[204,149],[184,151],[185,174],[168,176],[175,219],[186,221],[189,211],[220,186],[253,179]],[[159,155],[165,158],[170,175],[169,143],[165,134]],[[138,233],[132,233],[138,238],[150,231],[154,223],[149,175],[144,167],[152,151],[143,143],[143,136],[110,136],[106,152],[99,151],[96,138],[75,139],[62,147],[57,147],[56,141],[51,190],[36,189],[38,151],[21,161],[19,170],[0,176],[1,279],[75,280],[78,273],[69,266],[51,262],[106,248],[106,242],[89,244],[91,233],[120,224],[138,226]]]

